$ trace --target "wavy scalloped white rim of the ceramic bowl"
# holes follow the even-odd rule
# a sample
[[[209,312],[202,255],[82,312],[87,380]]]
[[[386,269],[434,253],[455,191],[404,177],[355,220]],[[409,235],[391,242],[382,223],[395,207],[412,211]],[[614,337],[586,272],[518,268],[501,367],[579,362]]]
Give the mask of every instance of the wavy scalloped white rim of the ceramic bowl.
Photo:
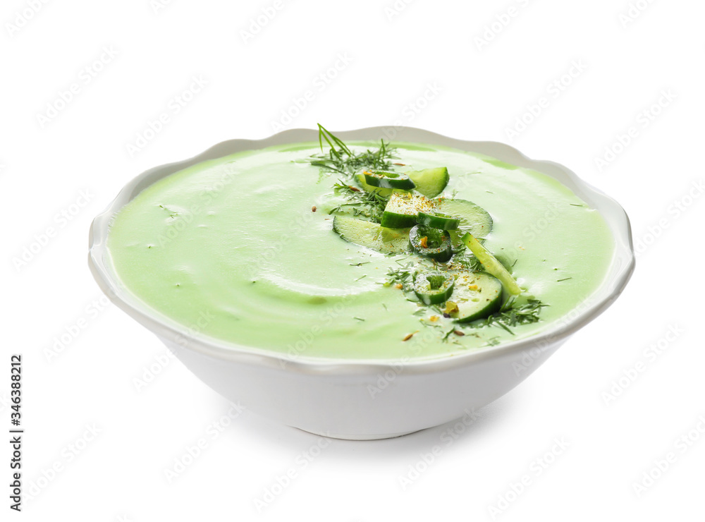
[[[391,136],[399,142],[417,142],[426,145],[442,145],[460,150],[486,154],[483,150],[494,151],[487,156],[500,159],[509,164],[534,169],[556,179],[571,190],[578,188],[580,197],[589,202],[607,222],[614,239],[614,251],[611,269],[615,273],[611,278],[606,274],[601,286],[596,289],[586,302],[587,307],[577,313],[572,319],[557,322],[557,325],[548,327],[544,332],[529,336],[517,341],[503,342],[497,346],[487,346],[467,353],[454,353],[452,356],[436,358],[379,358],[379,359],[345,359],[321,358],[311,356],[297,356],[292,358],[283,352],[269,351],[266,348],[255,348],[223,341],[209,336],[194,336],[188,332],[184,324],[171,320],[153,310],[140,298],[134,296],[123,286],[116,274],[106,265],[107,253],[106,238],[111,220],[130,200],[144,188],[159,181],[170,174],[185,169],[188,166],[223,157],[236,152],[259,150],[274,145],[288,143],[317,142],[318,130],[295,128],[283,130],[280,133],[259,140],[225,140],[219,142],[200,154],[178,162],[171,162],[155,166],[152,169],[135,176],[120,190],[116,198],[97,215],[92,221],[89,231],[88,265],[98,286],[108,298],[124,310],[130,317],[157,334],[161,339],[183,339],[179,342],[181,348],[219,359],[231,360],[237,363],[278,368],[306,374],[329,375],[360,375],[384,372],[390,368],[404,365],[406,373],[430,373],[448,369],[458,369],[465,365],[479,363],[491,358],[515,356],[516,353],[525,352],[537,346],[560,344],[570,335],[584,327],[606,310],[630,280],[635,268],[635,253],[632,244],[632,233],[629,217],[618,202],[601,192],[597,188],[583,181],[573,171],[556,162],[537,160],[527,157],[511,145],[493,141],[468,141],[449,138],[448,136],[434,133],[429,130],[407,126],[377,126],[356,130],[334,131],[333,133],[343,140],[370,141],[388,138]],[[497,154],[500,151],[501,154]],[[572,187],[571,187],[572,186]],[[601,298],[594,298],[597,294]],[[568,314],[566,314],[568,315]]]

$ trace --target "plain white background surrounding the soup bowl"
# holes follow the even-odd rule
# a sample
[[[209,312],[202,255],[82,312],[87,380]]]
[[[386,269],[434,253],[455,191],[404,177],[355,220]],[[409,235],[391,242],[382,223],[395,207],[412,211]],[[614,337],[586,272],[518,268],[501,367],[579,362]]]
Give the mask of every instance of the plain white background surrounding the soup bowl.
[[[9,358],[22,353],[32,494],[16,514],[4,489],[3,520],[702,519],[702,2],[163,4],[1,8],[0,418],[6,430]],[[271,20],[257,22],[263,9]],[[565,164],[627,210],[635,275],[608,312],[462,432],[332,440],[309,460],[317,437],[247,411],[228,418],[225,399],[100,301],[86,257],[94,215],[145,169],[319,121],[419,126]],[[150,381],[138,390],[139,379]],[[228,427],[214,430],[223,415]],[[189,459],[199,439],[207,447]],[[568,444],[558,455],[555,439]],[[434,445],[442,452],[424,465]],[[666,471],[637,492],[668,454]],[[176,460],[189,465],[170,481]],[[404,488],[410,466],[422,473]],[[296,478],[276,487],[292,468]],[[529,485],[513,493],[524,475]]]

